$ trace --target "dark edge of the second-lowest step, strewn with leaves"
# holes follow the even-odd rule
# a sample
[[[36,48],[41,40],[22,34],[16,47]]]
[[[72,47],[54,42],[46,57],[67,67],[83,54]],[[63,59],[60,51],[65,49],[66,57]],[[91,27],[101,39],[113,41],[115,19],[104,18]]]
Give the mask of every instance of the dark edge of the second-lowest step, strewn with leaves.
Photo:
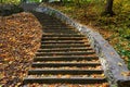
[[[78,75],[78,74],[102,74],[102,70],[29,70],[28,75],[41,75],[41,74],[72,74],[72,75]]]

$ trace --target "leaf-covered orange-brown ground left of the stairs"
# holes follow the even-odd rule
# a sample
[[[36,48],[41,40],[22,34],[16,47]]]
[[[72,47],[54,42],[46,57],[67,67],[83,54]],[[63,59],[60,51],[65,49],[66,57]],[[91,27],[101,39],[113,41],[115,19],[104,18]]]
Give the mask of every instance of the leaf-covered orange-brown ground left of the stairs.
[[[22,83],[40,47],[42,26],[31,13],[0,17],[0,86]]]

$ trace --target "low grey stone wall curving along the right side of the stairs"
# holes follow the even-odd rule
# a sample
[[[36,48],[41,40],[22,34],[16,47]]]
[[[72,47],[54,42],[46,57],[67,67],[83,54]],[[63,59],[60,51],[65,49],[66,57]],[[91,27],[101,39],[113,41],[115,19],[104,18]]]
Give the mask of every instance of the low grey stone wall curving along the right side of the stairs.
[[[112,87],[116,86],[117,83],[123,84],[126,82],[128,85],[123,87],[130,87],[130,76],[125,76],[123,74],[129,72],[127,65],[119,57],[119,54],[114,50],[114,48],[99,33],[93,32],[91,28],[77,23],[76,21],[69,18],[67,15],[50,7],[42,5],[37,8],[36,11],[60,18],[61,21],[72,25],[83,35],[86,35],[89,38],[90,44],[95,50],[96,54],[99,55],[104,73],[107,76]]]

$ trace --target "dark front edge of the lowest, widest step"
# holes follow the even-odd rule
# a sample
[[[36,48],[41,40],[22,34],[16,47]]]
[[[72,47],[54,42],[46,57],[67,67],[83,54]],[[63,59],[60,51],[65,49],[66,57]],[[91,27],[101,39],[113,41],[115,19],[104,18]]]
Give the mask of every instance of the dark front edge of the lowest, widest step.
[[[39,84],[100,84],[105,83],[105,78],[53,78],[53,77],[46,77],[46,78],[24,78],[24,84],[28,83],[39,83]]]

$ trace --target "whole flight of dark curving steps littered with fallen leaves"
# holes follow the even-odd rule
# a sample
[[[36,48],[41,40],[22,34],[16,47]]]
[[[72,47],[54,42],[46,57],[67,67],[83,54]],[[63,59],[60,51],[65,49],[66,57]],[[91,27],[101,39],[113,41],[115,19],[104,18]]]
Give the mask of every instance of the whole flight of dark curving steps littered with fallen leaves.
[[[106,83],[100,60],[87,37],[54,17],[42,13],[35,15],[43,25],[43,36],[25,85]]]

